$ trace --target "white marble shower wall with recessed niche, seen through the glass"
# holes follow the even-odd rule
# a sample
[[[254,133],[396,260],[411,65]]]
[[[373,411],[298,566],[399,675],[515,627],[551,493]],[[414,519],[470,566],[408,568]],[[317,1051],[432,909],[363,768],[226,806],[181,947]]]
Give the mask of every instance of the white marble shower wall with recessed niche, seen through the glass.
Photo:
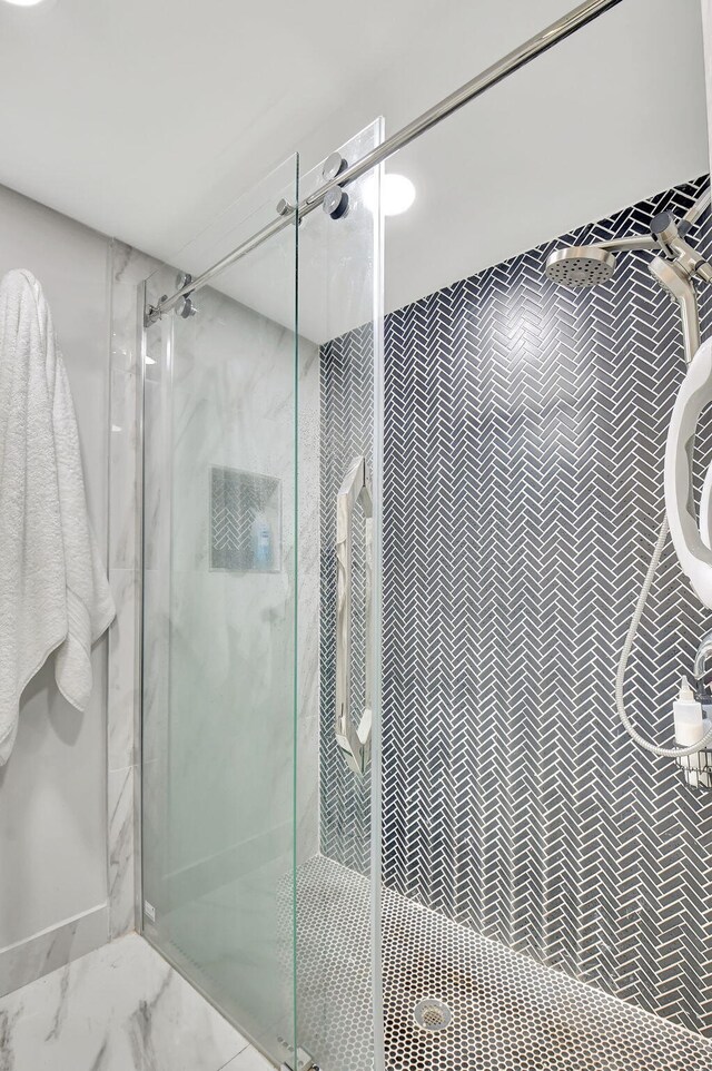
[[[161,279],[161,287],[167,282]],[[176,322],[169,365],[161,364],[168,351],[156,334],[151,341],[145,609],[152,623],[144,741],[151,765],[145,792],[165,812],[156,837],[169,855],[166,866],[185,872],[218,854],[231,859],[235,838],[271,837],[275,823],[290,818],[290,726],[277,737],[270,734],[274,713],[291,701],[294,346],[288,330],[215,291],[201,292],[195,320]],[[309,857],[318,842],[319,371],[318,350],[304,340],[299,400],[299,855]],[[281,479],[277,572],[210,569],[211,465]],[[170,770],[161,699],[168,641],[174,652]],[[170,814],[167,777],[180,785],[170,796]],[[271,786],[269,807],[258,790],[265,778]],[[155,847],[148,853],[151,895],[158,895],[161,882],[152,867],[161,845]]]

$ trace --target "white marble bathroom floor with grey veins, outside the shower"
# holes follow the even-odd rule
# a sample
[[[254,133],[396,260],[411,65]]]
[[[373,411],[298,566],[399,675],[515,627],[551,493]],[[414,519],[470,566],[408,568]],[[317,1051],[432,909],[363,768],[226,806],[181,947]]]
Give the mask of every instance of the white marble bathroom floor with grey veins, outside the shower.
[[[138,934],[0,999],[0,1071],[274,1071]]]

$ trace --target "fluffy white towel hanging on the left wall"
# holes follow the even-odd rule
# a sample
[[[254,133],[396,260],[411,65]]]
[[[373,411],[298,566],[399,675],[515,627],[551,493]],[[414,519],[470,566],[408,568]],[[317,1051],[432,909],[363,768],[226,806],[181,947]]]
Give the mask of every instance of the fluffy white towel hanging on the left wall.
[[[30,272],[10,272],[0,283],[0,765],[22,689],[53,650],[60,691],[85,709],[91,645],[115,612],[51,314]]]

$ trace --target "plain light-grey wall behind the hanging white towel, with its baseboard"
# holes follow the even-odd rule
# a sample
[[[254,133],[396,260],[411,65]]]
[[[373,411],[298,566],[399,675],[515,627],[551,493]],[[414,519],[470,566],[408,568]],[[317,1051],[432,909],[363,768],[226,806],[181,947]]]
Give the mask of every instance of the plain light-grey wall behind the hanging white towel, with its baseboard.
[[[55,316],[103,551],[110,243],[3,187],[0,236],[0,274],[33,272]],[[38,674],[22,698],[14,750],[0,768],[0,992],[106,940],[106,637],[93,674],[83,715],[59,695],[50,665]]]

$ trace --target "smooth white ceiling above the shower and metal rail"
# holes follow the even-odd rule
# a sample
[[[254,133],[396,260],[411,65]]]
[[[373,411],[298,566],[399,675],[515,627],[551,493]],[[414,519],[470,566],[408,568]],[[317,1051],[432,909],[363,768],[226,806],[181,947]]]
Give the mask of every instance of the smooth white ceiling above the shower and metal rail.
[[[0,181],[175,262],[295,149],[393,132],[573,3],[0,2]],[[389,167],[389,308],[708,170],[700,0],[623,0]],[[250,303],[288,318],[279,289]]]

